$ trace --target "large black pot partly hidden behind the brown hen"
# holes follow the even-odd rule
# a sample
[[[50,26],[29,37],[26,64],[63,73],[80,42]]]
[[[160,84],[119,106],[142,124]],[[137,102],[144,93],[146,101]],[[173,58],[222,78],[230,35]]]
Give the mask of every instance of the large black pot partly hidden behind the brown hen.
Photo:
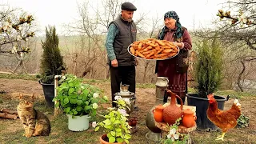
[[[186,94],[187,103],[189,106],[196,106],[197,116],[197,130],[204,131],[217,131],[218,127],[207,118],[206,111],[209,106],[208,98],[198,98],[198,94]],[[228,99],[214,95],[214,98],[218,102],[218,109],[223,110],[225,101]]]

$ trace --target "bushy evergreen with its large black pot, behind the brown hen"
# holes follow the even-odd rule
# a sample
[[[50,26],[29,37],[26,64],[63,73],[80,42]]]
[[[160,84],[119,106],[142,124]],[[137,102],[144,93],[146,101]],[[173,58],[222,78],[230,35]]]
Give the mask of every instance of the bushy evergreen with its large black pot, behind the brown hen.
[[[209,102],[207,95],[216,92],[222,82],[222,48],[215,37],[212,40],[204,39],[198,45],[198,61],[195,67],[197,94],[187,94],[190,106],[196,106],[198,130],[216,131],[217,126],[207,118],[206,110]],[[226,98],[214,95],[218,108],[223,110]]]

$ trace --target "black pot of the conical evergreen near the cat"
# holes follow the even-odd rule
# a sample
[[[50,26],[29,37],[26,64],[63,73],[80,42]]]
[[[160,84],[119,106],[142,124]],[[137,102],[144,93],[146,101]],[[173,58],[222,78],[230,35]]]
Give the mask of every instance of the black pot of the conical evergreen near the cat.
[[[54,107],[54,84],[46,84],[39,81],[39,83],[42,85],[43,95],[46,99],[46,104],[50,107]]]

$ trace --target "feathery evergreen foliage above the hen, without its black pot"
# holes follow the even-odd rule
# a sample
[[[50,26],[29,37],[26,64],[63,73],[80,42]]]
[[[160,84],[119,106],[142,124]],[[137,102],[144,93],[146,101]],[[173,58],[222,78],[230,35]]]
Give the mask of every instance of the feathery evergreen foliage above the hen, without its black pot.
[[[210,43],[210,44],[209,44]],[[196,90],[200,98],[216,92],[222,82],[222,48],[216,36],[212,40],[204,39],[198,45],[198,62],[195,67]]]

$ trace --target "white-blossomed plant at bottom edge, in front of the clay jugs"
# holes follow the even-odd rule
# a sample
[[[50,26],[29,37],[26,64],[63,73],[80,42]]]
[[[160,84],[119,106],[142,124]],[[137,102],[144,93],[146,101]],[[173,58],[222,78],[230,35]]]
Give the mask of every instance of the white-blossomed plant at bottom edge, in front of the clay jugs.
[[[167,124],[170,131],[163,142],[164,144],[186,144],[188,136],[186,134],[178,133],[178,125],[181,120],[182,118],[178,118],[172,126]]]

